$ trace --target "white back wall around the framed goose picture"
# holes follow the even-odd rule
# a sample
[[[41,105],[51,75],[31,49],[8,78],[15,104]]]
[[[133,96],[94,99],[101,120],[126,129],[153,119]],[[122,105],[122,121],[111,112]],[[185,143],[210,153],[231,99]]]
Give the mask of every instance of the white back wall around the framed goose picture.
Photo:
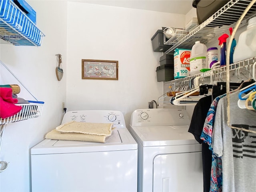
[[[67,108],[132,112],[162,95],[151,38],[162,26],[183,28],[185,15],[68,2]],[[118,80],[82,79],[82,59],[118,60]]]

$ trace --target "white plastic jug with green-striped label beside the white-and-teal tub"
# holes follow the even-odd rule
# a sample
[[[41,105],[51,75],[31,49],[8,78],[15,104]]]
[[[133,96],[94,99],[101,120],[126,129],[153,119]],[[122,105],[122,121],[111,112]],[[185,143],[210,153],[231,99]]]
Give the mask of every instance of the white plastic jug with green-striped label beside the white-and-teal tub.
[[[207,47],[205,44],[196,41],[192,46],[190,54],[190,75],[201,73],[201,69],[206,69],[207,66]]]

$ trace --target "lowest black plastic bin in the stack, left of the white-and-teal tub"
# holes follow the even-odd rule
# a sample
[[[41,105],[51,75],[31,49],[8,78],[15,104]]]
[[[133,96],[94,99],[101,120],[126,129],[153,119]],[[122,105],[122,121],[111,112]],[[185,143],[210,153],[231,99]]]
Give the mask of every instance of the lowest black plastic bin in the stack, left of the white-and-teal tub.
[[[157,81],[174,80],[174,65],[161,65],[156,68]]]

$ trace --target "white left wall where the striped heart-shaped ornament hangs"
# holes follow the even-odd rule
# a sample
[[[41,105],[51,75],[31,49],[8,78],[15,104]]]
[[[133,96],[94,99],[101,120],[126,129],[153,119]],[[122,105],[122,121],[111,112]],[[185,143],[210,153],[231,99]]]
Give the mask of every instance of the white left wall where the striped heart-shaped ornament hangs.
[[[36,10],[37,26],[46,35],[41,47],[0,44],[0,59],[38,99],[44,101],[42,116],[6,126],[0,160],[10,162],[0,173],[1,192],[30,191],[30,148],[60,124],[66,102],[66,1],[28,1]],[[56,56],[62,54],[64,77],[56,78]],[[2,65],[1,84],[19,84]],[[21,87],[19,97],[34,100]],[[45,166],[45,165],[42,165]]]

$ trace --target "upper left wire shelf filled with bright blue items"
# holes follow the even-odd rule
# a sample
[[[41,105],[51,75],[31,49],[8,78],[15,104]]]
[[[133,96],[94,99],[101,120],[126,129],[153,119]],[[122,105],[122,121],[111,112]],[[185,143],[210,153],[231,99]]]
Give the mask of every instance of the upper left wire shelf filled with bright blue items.
[[[40,46],[44,34],[12,0],[0,1],[0,43]]]

